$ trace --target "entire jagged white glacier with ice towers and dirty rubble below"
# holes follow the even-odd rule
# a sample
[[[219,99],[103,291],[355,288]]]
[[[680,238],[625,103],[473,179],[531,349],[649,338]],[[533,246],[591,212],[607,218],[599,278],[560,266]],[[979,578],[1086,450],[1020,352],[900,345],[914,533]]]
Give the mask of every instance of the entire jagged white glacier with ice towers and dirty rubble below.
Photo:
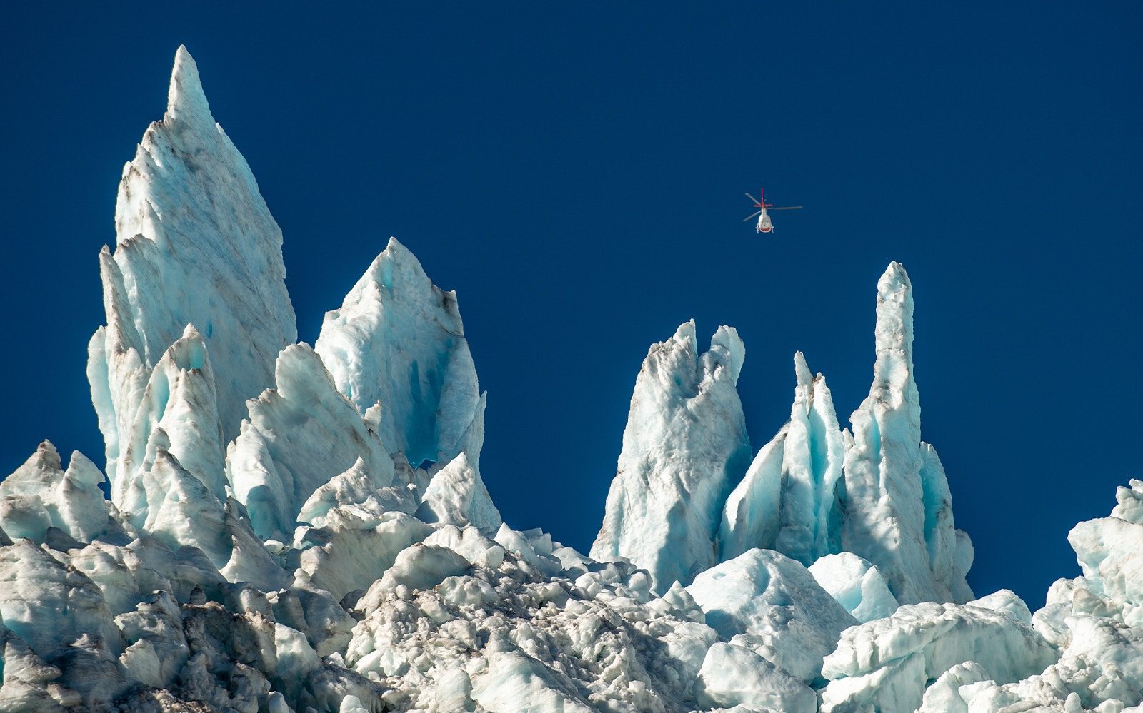
[[[585,555],[503,520],[456,294],[399,241],[297,342],[185,48],[115,226],[106,466],[45,441],[0,481],[0,711],[1143,711],[1143,481],[1072,529],[1082,575],[1041,609],[977,596],[897,263],[846,427],[798,352],[756,452],[737,331],[652,345]]]

